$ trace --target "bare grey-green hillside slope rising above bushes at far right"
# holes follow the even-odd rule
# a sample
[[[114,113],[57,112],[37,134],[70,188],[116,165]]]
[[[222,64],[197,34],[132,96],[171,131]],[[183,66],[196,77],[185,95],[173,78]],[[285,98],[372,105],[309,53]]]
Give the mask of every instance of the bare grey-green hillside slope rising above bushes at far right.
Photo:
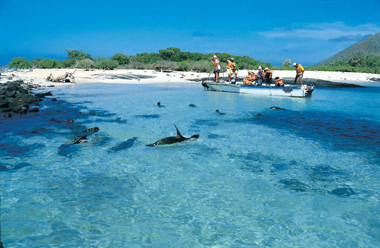
[[[327,60],[315,63],[310,67],[318,67],[320,65],[329,65],[332,61],[348,61],[352,54],[375,54],[380,55],[380,32],[368,37],[349,48],[331,56]]]

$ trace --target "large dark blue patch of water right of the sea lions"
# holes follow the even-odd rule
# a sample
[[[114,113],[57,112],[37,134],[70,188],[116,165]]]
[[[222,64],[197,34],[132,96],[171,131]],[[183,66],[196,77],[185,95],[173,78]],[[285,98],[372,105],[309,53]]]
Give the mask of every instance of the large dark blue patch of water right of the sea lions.
[[[330,149],[365,149],[379,153],[380,127],[364,116],[344,113],[271,111],[235,120],[237,123],[270,126],[298,136],[318,140]]]

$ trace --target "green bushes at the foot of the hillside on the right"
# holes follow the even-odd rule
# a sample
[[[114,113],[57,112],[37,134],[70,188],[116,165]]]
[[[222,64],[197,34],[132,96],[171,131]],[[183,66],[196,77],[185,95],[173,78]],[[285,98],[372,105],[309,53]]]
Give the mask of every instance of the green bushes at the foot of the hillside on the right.
[[[322,71],[346,71],[346,72],[366,72],[380,73],[380,55],[374,54],[352,54],[348,61],[332,61],[329,65],[318,67],[305,67],[305,70]]]

